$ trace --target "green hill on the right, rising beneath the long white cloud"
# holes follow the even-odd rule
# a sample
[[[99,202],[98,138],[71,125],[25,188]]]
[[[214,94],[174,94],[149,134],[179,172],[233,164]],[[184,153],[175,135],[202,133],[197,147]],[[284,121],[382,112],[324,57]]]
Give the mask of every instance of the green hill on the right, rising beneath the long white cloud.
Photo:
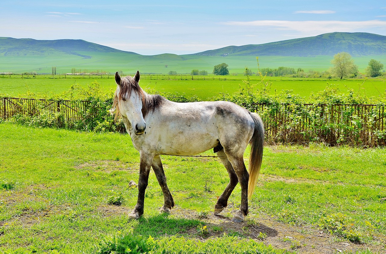
[[[342,51],[352,56],[384,55],[386,54],[386,36],[366,32],[333,32],[266,44],[228,46],[193,55],[334,56]]]

